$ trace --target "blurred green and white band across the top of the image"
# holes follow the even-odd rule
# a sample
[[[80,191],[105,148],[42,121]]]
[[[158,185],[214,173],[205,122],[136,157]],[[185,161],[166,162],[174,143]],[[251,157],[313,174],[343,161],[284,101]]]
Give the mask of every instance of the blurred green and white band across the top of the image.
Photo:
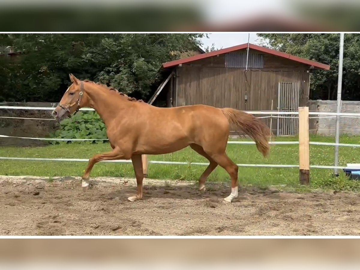
[[[358,31],[355,0],[0,3],[3,31]]]

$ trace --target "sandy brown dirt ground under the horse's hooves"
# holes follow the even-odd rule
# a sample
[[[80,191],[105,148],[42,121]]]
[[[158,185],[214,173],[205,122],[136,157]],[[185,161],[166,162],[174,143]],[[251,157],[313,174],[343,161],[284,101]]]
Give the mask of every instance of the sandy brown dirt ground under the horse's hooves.
[[[360,235],[360,194],[247,188],[226,203],[227,186],[134,180],[0,179],[1,235]]]

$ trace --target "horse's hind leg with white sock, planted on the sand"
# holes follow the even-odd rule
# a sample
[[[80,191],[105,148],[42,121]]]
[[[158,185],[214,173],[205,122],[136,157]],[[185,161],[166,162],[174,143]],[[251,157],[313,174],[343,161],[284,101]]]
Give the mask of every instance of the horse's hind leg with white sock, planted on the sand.
[[[231,161],[225,152],[222,154],[208,154],[223,167],[231,177],[231,194],[224,198],[225,201],[231,202],[234,198],[238,197],[238,165]]]

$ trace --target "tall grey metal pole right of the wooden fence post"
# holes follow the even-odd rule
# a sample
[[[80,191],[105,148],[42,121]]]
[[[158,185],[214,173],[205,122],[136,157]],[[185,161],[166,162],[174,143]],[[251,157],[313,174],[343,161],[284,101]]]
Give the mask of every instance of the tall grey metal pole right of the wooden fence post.
[[[336,112],[340,113],[341,111],[341,85],[342,85],[342,59],[344,53],[344,33],[340,33],[340,49],[339,49],[339,74],[338,74],[338,90],[337,90],[337,104]],[[340,116],[336,116],[336,131],[335,131],[335,143],[339,143],[340,136]],[[339,145],[335,145],[335,166],[339,164]],[[338,176],[338,169],[334,169],[334,175]]]

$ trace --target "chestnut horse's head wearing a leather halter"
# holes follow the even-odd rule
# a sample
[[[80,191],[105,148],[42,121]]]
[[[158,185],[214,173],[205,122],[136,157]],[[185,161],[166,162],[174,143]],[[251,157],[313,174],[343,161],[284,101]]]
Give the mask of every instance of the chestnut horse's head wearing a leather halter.
[[[84,91],[84,82],[76,78],[74,75],[69,74],[72,84],[65,91],[59,104],[53,111],[53,116],[56,120],[60,121],[65,117],[70,117],[74,112],[77,112],[81,106],[81,98]],[[83,100],[84,102],[84,100]]]

